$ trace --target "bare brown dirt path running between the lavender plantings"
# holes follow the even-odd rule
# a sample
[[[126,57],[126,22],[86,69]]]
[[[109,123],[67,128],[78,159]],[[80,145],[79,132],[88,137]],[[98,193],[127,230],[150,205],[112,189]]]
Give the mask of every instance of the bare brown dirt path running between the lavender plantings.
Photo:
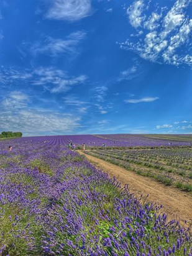
[[[97,168],[101,168],[108,173],[109,177],[115,176],[122,185],[128,184],[129,189],[135,196],[140,194],[148,197],[148,201],[163,204],[163,212],[168,214],[168,219],[185,220],[192,223],[192,196],[186,192],[177,190],[170,186],[165,186],[157,181],[137,175],[122,167],[106,162],[91,155],[86,155],[81,150],[77,150],[80,155],[85,155],[89,162]]]

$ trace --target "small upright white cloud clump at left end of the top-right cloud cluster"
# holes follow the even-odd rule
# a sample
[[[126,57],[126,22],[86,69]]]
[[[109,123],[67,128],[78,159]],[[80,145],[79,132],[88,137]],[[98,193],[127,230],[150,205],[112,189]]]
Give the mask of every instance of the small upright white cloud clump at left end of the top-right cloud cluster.
[[[142,17],[142,11],[144,8],[144,1],[137,0],[127,9],[127,15],[129,16],[130,24],[137,29],[137,27],[141,26],[142,21],[144,21],[145,17]]]

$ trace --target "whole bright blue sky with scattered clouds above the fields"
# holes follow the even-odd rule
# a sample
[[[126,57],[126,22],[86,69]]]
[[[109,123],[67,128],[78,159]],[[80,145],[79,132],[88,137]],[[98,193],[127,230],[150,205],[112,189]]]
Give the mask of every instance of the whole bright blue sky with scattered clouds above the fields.
[[[2,0],[0,132],[192,134],[192,0]]]

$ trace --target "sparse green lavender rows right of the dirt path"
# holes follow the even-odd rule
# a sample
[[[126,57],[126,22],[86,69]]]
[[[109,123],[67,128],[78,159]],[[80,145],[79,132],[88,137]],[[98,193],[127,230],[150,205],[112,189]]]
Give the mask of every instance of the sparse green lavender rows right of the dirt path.
[[[94,157],[192,192],[192,149],[91,150]]]

